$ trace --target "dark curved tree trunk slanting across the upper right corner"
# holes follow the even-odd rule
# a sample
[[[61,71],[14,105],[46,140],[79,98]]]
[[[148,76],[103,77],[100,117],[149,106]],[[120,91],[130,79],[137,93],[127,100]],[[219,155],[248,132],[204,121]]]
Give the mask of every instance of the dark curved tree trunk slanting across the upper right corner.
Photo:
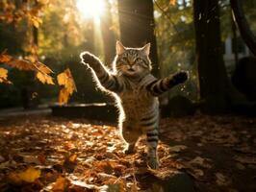
[[[249,25],[243,13],[242,3],[240,0],[230,0],[230,5],[235,18],[235,22],[239,28],[240,34],[244,42],[248,46],[251,53],[256,56],[256,37],[251,32]]]

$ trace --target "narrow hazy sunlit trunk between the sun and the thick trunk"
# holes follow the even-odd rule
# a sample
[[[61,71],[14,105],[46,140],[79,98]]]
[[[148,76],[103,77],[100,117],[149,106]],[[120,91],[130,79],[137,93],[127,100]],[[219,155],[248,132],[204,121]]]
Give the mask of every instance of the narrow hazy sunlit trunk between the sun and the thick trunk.
[[[104,60],[105,64],[111,66],[115,58],[115,34],[112,30],[112,14],[109,1],[105,1],[106,11],[100,19],[101,34],[103,38]]]

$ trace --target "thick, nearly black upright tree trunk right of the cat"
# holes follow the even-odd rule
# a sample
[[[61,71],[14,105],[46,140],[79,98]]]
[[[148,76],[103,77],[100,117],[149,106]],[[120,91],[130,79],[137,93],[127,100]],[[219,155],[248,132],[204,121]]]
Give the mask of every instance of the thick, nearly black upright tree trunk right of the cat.
[[[229,81],[221,52],[218,0],[194,0],[196,59],[200,99],[209,112],[228,106]]]

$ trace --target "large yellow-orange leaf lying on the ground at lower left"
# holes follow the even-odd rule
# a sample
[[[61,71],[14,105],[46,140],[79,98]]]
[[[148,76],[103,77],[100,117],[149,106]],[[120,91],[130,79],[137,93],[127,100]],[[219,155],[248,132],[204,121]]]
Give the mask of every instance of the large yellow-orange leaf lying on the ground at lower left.
[[[34,182],[40,176],[40,170],[35,169],[33,167],[28,168],[27,170],[20,173],[11,173],[9,175],[9,179],[14,183],[20,182]]]

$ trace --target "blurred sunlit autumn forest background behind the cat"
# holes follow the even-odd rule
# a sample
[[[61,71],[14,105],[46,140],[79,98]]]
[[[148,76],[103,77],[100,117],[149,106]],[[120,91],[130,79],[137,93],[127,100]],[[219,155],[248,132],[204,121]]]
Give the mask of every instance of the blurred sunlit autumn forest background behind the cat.
[[[255,8],[254,0],[243,0],[243,12],[254,34]],[[61,87],[55,78],[67,68],[76,84],[70,94],[77,89],[70,103],[112,102],[95,89],[79,54],[90,51],[110,66],[116,39],[125,46],[151,42],[157,76],[178,70],[190,72],[190,81],[173,88],[162,98],[163,104],[177,95],[182,96],[182,104],[189,99],[212,109],[256,100],[253,90],[243,90],[239,85],[234,88],[230,81],[239,60],[252,53],[234,23],[228,0],[1,0],[0,108],[57,103]],[[5,63],[8,56],[15,60],[13,65]],[[35,71],[16,67],[22,64],[17,60],[47,65],[54,73],[47,69],[43,75],[54,79],[36,80]],[[255,71],[252,76],[254,80],[252,77],[245,82],[255,88]]]

